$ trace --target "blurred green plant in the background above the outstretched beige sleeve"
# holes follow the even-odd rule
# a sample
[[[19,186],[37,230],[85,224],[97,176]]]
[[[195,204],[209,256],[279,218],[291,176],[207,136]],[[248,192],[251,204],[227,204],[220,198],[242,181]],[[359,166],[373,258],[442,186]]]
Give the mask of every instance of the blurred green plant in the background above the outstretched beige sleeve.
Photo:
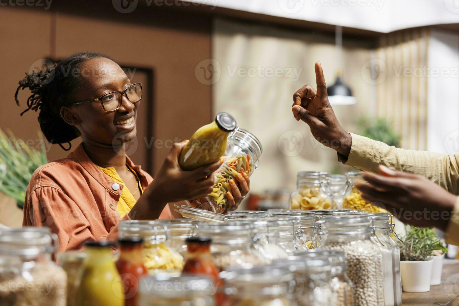
[[[398,147],[400,136],[391,128],[389,122],[381,118],[362,117],[358,120],[358,134]]]

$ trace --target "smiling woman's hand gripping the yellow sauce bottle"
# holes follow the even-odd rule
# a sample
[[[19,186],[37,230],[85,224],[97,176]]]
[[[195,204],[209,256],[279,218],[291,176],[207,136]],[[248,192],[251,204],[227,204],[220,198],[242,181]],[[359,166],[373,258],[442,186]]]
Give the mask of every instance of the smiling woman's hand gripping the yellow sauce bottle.
[[[213,172],[222,164],[222,161],[217,161],[192,171],[182,170],[179,166],[179,154],[186,142],[173,145],[151,183],[153,196],[160,197],[165,203],[198,199],[211,193],[214,184]]]

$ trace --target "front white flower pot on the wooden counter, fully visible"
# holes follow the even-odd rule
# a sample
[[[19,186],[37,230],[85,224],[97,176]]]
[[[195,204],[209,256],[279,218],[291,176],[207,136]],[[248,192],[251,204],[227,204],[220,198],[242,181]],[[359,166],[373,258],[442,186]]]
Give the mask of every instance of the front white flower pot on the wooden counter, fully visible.
[[[430,291],[433,260],[400,261],[402,289],[405,292]]]

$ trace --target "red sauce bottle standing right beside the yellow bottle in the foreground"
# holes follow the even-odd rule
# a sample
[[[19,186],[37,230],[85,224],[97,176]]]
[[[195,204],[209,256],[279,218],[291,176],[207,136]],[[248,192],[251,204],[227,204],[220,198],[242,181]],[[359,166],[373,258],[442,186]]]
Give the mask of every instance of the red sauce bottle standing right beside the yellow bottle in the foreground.
[[[116,267],[123,281],[124,305],[136,306],[140,278],[148,274],[143,264],[143,239],[120,238],[118,243],[120,256]]]

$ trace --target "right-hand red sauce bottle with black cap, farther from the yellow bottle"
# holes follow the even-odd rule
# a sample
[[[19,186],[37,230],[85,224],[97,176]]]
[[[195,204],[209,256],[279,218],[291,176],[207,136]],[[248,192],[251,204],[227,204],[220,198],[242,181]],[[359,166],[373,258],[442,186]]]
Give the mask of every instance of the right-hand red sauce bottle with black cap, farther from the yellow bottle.
[[[210,253],[210,245],[212,239],[208,237],[190,237],[185,240],[188,256],[183,266],[184,274],[206,274],[213,279],[215,288],[220,286],[220,278],[218,268],[213,263],[212,254]],[[223,295],[216,293],[215,298],[217,305],[222,304]]]

